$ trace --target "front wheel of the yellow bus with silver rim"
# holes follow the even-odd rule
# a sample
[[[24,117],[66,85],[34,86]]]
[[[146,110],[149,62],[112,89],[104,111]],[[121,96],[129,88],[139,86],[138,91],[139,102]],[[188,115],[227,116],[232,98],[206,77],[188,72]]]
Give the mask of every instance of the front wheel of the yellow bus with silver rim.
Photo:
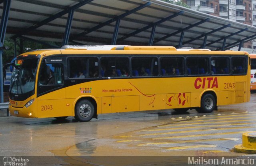
[[[76,104],[75,118],[79,122],[88,122],[94,116],[94,106],[88,100],[80,100]]]

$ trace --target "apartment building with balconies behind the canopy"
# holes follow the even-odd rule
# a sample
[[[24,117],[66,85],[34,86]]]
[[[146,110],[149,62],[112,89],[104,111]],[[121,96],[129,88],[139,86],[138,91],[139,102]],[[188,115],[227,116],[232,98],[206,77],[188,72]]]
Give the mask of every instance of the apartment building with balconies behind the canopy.
[[[182,0],[192,10],[256,26],[256,0]],[[256,40],[244,43],[256,48]]]

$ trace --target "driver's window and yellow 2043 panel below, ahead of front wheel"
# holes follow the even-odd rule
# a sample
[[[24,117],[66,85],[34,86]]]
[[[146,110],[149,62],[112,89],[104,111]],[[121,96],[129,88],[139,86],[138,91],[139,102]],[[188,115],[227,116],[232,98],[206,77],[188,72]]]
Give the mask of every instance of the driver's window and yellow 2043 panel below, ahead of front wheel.
[[[64,59],[44,58],[38,74],[38,117],[71,116],[64,87]]]

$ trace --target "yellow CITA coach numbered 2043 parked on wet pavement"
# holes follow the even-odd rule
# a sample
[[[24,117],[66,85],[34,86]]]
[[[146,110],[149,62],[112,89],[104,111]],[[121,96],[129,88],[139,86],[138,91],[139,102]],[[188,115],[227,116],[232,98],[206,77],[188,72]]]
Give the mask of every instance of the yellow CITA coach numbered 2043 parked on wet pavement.
[[[174,109],[212,112],[250,100],[247,52],[172,46],[64,46],[17,57],[9,110],[26,118]],[[111,49],[110,49],[111,48]]]

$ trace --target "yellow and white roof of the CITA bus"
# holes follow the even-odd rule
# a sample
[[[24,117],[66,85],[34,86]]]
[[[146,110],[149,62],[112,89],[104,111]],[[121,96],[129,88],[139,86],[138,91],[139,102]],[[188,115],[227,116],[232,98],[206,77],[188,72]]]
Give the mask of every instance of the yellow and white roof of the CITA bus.
[[[95,52],[97,51],[97,52]],[[138,52],[142,51],[142,52]],[[159,53],[161,51],[161,53]],[[176,52],[176,53],[174,53]],[[189,52],[189,53],[188,53]],[[34,50],[21,54],[40,54],[43,56],[53,54],[216,54],[216,55],[249,55],[242,51],[211,51],[209,49],[178,48],[173,46],[117,46],[117,45],[66,45],[60,49]],[[255,54],[256,56],[256,54]]]

